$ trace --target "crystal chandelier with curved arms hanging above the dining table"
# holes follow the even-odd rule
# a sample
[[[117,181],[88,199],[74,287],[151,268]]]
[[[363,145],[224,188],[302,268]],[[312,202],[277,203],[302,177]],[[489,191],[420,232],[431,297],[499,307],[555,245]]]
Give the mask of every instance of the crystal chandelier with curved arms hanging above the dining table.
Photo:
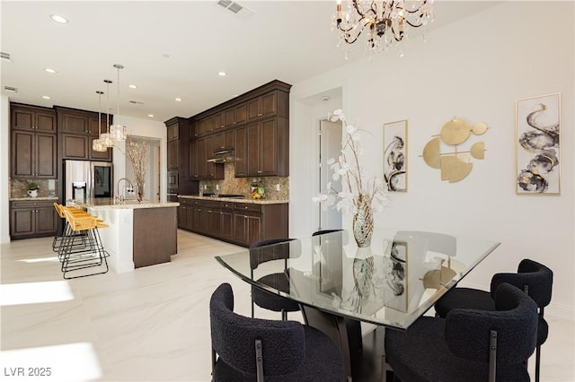
[[[409,27],[425,27],[433,21],[433,0],[347,0],[346,3],[344,10],[341,0],[337,0],[332,17],[332,30],[337,28],[341,32],[338,46],[353,44],[363,33],[368,52],[385,51],[406,39]]]

